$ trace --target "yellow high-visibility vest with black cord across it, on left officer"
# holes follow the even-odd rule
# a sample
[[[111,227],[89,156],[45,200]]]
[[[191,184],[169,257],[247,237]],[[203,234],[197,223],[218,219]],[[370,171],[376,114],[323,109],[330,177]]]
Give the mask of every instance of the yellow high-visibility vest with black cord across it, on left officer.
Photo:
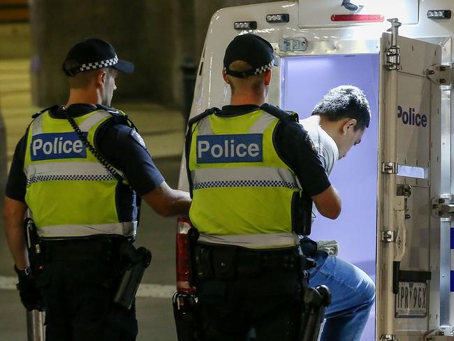
[[[111,117],[108,110],[94,110],[74,119],[96,147],[96,129]],[[136,234],[136,205],[131,205],[131,221],[119,219],[115,191],[124,182],[104,168],[68,120],[52,117],[50,110],[29,126],[24,173],[25,201],[41,238]]]

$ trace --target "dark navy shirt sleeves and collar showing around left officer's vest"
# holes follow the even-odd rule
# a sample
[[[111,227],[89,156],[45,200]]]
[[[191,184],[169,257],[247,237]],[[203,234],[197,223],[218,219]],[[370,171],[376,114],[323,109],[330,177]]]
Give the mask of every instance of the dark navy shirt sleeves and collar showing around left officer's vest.
[[[73,104],[66,110],[73,117],[78,117],[91,113],[96,107],[90,104]],[[51,115],[54,118],[66,119],[61,108],[51,109]],[[26,141],[27,133],[17,143],[6,183],[6,196],[22,202],[25,202],[27,190],[27,177],[24,173]],[[95,147],[112,166],[124,173],[131,188],[140,196],[156,189],[164,181],[140,135],[131,127],[120,124],[116,117],[108,119],[99,127],[95,136]],[[121,191],[122,188],[119,187],[118,190]],[[122,194],[117,194],[117,198],[121,200]],[[121,203],[117,204],[122,207]]]

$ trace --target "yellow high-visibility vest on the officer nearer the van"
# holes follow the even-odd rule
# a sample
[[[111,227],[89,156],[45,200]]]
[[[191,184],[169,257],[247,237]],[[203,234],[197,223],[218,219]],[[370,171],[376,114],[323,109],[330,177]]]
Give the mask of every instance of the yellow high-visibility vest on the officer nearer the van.
[[[274,147],[278,123],[278,117],[261,109],[229,117],[205,112],[191,120],[186,141],[193,195],[189,217],[199,240],[250,248],[298,243],[291,209],[300,186]]]

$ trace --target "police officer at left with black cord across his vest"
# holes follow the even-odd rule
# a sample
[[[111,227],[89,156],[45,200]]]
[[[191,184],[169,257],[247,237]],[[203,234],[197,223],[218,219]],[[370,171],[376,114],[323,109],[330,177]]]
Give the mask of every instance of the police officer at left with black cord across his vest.
[[[171,189],[124,113],[110,108],[118,72],[133,64],[98,38],[76,43],[63,64],[64,106],[34,115],[17,144],[6,187],[4,226],[27,310],[46,312],[46,340],[136,340],[134,309],[113,303],[119,245],[132,240],[140,198],[160,215],[186,215],[191,198]],[[27,209],[44,268],[29,269]]]

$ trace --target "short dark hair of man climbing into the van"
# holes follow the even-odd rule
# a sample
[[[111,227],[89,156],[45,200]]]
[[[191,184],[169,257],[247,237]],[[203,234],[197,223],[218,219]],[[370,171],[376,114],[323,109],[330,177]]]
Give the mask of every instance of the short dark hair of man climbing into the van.
[[[312,115],[327,117],[330,121],[339,121],[343,118],[356,119],[357,129],[365,129],[370,123],[370,107],[366,96],[359,87],[353,85],[339,85],[323,96]]]

